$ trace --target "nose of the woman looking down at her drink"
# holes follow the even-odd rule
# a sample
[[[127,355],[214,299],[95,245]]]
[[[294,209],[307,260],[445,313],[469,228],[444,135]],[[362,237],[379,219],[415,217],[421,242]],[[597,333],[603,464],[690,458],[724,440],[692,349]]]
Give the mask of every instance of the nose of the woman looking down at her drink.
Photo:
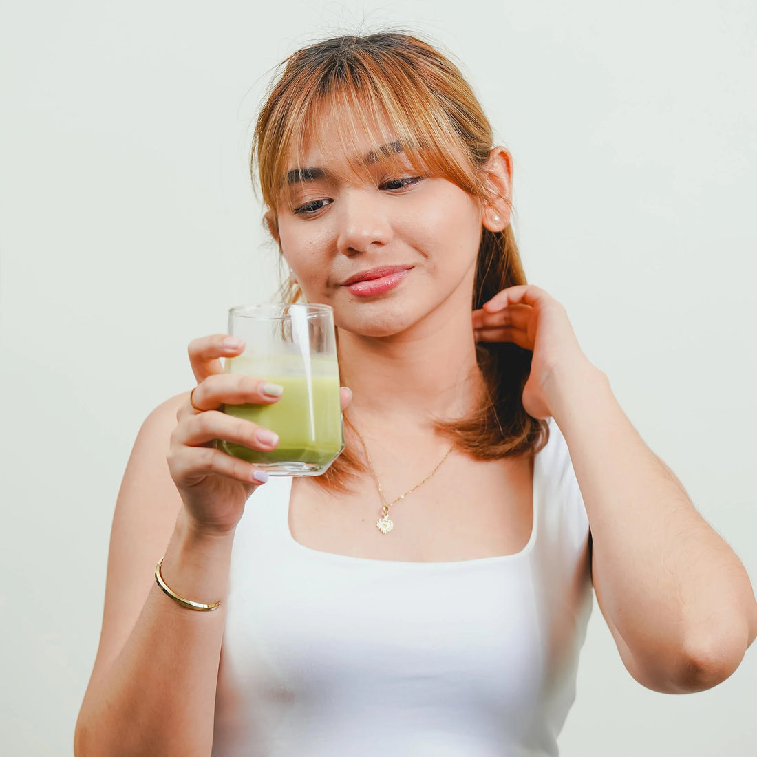
[[[381,248],[391,241],[386,207],[376,190],[348,190],[338,198],[338,251],[354,255]]]

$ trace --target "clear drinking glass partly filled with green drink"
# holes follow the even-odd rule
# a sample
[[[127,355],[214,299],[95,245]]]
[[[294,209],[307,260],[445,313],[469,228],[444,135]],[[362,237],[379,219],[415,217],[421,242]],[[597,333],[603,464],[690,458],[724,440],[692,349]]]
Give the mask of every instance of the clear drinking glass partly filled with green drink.
[[[276,431],[279,446],[262,452],[218,441],[225,452],[270,475],[319,475],[344,450],[334,313],[329,305],[240,305],[229,310],[229,334],[245,351],[226,372],[257,376],[284,388],[271,405],[226,405],[224,412]]]

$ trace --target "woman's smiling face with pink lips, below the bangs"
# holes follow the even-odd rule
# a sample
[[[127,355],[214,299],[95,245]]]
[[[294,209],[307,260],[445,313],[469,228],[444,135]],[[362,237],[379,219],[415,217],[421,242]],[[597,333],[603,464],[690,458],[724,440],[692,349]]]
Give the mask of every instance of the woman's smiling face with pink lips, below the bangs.
[[[307,300],[331,305],[340,328],[377,337],[442,307],[469,311],[481,202],[419,175],[397,143],[375,145],[366,133],[359,155],[340,154],[336,124],[322,120],[301,170],[285,179],[291,204],[279,207],[279,244]],[[350,172],[350,158],[368,170]]]

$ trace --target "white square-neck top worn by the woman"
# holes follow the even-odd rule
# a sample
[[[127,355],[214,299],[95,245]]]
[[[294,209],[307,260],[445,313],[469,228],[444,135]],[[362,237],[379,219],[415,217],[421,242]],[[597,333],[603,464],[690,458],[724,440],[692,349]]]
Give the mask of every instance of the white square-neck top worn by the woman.
[[[313,550],[291,478],[247,503],[232,552],[215,757],[556,755],[591,610],[589,525],[550,421],[516,554],[398,562]]]

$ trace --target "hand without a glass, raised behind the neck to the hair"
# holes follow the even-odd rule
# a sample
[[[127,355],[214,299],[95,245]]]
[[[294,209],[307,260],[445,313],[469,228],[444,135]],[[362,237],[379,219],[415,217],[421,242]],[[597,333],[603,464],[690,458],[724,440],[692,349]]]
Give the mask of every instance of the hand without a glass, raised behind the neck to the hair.
[[[534,418],[553,416],[560,382],[597,372],[581,351],[565,308],[536,286],[512,286],[495,294],[473,311],[473,330],[476,341],[511,341],[533,352],[523,407]]]

